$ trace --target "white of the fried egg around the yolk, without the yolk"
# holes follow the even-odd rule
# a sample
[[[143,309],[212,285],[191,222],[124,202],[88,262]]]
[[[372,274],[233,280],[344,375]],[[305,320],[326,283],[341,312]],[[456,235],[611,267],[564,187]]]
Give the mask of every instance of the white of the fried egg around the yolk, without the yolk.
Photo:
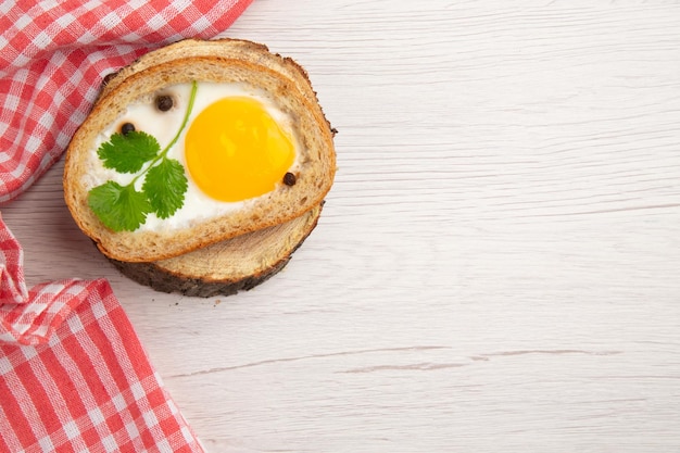
[[[114,121],[106,129],[99,134],[95,148],[89,153],[90,171],[86,175],[84,181],[87,190],[102,185],[108,180],[113,180],[123,186],[129,184],[135,175],[119,174],[113,169],[104,168],[103,163],[97,155],[97,149],[110,140],[111,136],[115,133],[119,133],[121,126],[124,123],[131,123],[135,125],[136,130],[141,130],[152,135],[159,141],[161,149],[172,141],[172,139],[179,130],[181,121],[187,111],[187,104],[189,102],[189,95],[191,92],[191,84],[179,84],[159,91],[158,93],[149,95],[139,102],[130,104],[126,112]],[[161,112],[155,108],[155,98],[159,95],[169,95],[173,97],[173,108],[166,112]],[[212,217],[221,216],[229,212],[238,211],[245,207],[247,203],[252,203],[256,198],[237,201],[237,202],[224,202],[215,200],[205,194],[191,179],[191,175],[187,169],[187,163],[185,159],[184,142],[187,130],[191,127],[193,119],[210,104],[227,97],[234,96],[248,96],[262,102],[269,115],[278,123],[278,125],[293,139],[293,146],[295,149],[295,160],[293,161],[290,172],[294,172],[299,162],[300,155],[300,141],[294,134],[292,126],[292,119],[289,115],[282,112],[269,99],[264,92],[256,88],[243,85],[243,84],[216,84],[199,81],[198,89],[194,98],[193,109],[187,122],[187,126],[181,131],[177,142],[168,150],[167,158],[179,161],[185,167],[185,175],[188,179],[188,189],[185,193],[184,205],[175,212],[168,218],[159,218],[155,214],[151,213],[147,215],[147,222],[142,224],[138,230],[175,230],[190,227],[193,223],[202,222]],[[143,178],[140,178],[136,183],[137,190],[141,190]],[[266,194],[265,194],[266,196]],[[264,197],[264,196],[262,196]]]

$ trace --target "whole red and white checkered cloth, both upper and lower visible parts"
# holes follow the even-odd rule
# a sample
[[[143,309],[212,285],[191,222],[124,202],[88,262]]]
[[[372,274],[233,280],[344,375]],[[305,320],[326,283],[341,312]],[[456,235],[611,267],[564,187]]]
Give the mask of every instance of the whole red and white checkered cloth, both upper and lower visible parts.
[[[0,2],[0,203],[65,150],[103,76],[252,0]],[[21,201],[16,201],[21,202]],[[28,289],[0,215],[0,452],[202,452],[109,282]]]

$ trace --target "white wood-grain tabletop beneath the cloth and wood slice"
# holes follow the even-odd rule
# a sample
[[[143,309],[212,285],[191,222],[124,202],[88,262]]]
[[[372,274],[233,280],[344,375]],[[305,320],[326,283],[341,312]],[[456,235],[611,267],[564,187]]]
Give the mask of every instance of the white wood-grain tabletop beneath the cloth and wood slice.
[[[339,129],[322,221],[236,297],[153,292],[54,166],[30,285],[106,277],[212,452],[680,451],[680,5],[255,0]]]

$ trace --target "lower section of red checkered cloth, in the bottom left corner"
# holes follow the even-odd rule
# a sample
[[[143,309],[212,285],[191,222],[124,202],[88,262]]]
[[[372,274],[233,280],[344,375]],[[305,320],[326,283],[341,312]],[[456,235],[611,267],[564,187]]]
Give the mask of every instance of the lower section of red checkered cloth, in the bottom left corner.
[[[26,291],[0,217],[0,451],[202,452],[109,282]]]

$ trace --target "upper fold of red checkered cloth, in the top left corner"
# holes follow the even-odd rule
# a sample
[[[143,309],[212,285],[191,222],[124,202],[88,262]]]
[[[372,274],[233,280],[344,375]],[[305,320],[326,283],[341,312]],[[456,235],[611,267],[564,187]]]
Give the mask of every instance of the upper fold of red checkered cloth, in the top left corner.
[[[155,47],[224,32],[251,1],[1,1],[0,203],[60,158],[104,75]]]

